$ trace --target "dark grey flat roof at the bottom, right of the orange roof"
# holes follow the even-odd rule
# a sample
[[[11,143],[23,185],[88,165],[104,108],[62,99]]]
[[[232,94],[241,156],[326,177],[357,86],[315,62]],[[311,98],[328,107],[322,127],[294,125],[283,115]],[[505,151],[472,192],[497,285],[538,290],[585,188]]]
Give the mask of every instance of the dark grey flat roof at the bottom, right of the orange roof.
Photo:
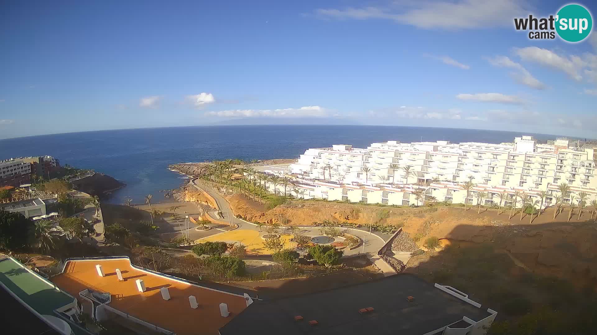
[[[407,297],[414,301],[408,302]],[[361,314],[359,309],[373,307]],[[303,321],[295,321],[300,315]],[[220,328],[229,334],[421,335],[469,317],[490,316],[411,274],[278,300],[255,301]],[[316,320],[318,325],[309,325]]]

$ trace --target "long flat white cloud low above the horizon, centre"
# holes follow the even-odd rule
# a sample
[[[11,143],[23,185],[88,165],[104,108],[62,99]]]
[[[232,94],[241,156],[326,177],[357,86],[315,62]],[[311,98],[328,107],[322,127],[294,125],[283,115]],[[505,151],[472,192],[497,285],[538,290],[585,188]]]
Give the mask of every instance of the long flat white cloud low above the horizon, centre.
[[[281,108],[281,109],[237,109],[208,111],[205,113],[210,116],[219,117],[325,117],[328,116],[327,110],[319,106],[305,106],[300,108]],[[340,116],[340,114],[334,116]]]

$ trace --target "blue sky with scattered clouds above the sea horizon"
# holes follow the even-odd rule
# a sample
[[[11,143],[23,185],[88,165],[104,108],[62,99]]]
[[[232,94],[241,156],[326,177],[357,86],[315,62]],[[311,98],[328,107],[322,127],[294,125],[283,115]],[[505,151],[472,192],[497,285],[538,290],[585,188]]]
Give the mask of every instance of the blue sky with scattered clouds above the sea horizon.
[[[513,28],[564,4],[5,1],[0,138],[291,118],[596,138],[597,33]]]

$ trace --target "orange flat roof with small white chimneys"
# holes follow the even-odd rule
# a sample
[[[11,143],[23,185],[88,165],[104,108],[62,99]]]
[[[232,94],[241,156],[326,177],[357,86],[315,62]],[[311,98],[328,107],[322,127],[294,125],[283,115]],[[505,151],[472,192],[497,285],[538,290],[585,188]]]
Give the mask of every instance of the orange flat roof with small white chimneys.
[[[105,277],[97,274],[97,264],[102,266]],[[124,281],[118,281],[116,268],[121,270]],[[144,281],[145,292],[137,290],[137,279]],[[133,268],[127,258],[69,260],[63,274],[53,277],[52,281],[81,303],[85,300],[79,292],[85,289],[109,292],[112,300],[108,306],[178,335],[218,334],[220,327],[247,306],[244,297],[238,294]],[[162,299],[161,287],[168,287],[170,300]],[[189,296],[196,297],[199,308],[190,308]],[[228,305],[229,317],[220,315],[220,303]]]

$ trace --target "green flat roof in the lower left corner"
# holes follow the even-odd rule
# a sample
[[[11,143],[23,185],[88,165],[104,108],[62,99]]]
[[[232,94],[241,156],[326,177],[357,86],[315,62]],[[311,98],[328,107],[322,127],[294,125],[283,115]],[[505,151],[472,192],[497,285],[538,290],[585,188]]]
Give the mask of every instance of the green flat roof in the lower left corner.
[[[0,282],[42,315],[54,316],[54,309],[75,302],[70,294],[56,289],[52,283],[10,257],[0,259]]]

